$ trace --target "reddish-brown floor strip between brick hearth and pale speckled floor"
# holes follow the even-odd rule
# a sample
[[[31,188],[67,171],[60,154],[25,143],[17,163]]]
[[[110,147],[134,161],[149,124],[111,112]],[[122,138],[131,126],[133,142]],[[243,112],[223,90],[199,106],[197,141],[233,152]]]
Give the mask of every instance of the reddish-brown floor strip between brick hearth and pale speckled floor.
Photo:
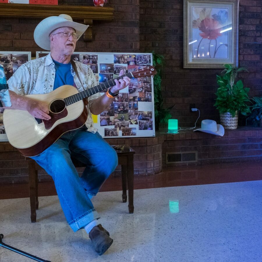
[[[135,176],[134,189],[262,180],[262,162],[166,167],[153,176]],[[100,192],[122,190],[121,177],[109,177]],[[39,196],[54,196],[53,182],[38,183]],[[28,184],[0,185],[0,199],[29,197]]]

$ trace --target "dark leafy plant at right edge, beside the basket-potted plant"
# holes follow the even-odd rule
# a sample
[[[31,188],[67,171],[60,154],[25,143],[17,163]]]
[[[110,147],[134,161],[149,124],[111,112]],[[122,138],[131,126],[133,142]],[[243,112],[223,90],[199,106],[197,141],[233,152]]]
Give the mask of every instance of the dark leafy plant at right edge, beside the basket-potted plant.
[[[251,106],[251,114],[246,120],[246,123],[256,127],[262,127],[262,97],[254,96],[250,98],[253,102]]]

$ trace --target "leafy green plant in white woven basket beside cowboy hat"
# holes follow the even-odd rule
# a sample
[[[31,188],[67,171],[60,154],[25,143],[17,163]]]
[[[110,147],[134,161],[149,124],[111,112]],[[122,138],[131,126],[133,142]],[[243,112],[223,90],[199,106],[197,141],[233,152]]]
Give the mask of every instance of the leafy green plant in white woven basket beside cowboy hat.
[[[230,64],[225,64],[224,67],[222,75],[217,75],[219,87],[215,93],[217,98],[214,106],[219,111],[221,125],[226,129],[236,129],[238,127],[238,113],[246,116],[251,112],[247,105],[250,102],[249,88],[244,88],[241,79],[235,82],[238,72],[247,70]]]

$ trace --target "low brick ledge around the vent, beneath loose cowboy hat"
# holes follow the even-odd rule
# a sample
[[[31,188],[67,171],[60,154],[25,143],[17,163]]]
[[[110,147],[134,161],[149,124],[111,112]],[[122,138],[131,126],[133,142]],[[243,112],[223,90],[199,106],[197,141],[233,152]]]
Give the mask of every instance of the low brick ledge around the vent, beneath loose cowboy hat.
[[[197,151],[197,162],[167,164],[166,153]],[[223,137],[191,130],[164,134],[163,167],[243,163],[262,160],[262,128],[225,130]]]

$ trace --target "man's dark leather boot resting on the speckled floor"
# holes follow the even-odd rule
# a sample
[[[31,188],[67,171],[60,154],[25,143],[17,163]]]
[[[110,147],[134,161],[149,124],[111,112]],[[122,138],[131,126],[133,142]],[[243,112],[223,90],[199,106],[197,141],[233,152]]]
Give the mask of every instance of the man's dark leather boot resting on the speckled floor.
[[[99,256],[104,254],[113,243],[113,239],[109,237],[108,231],[106,231],[101,224],[92,228],[89,232],[89,238],[92,241],[95,252],[97,252]]]

